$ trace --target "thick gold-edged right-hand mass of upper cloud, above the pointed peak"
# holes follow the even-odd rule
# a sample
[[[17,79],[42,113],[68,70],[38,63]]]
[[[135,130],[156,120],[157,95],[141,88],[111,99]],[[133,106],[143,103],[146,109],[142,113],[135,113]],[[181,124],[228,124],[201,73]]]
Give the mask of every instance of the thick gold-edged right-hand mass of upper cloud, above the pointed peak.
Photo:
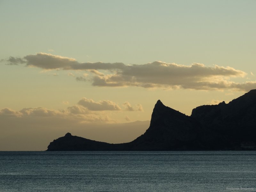
[[[127,66],[122,71],[105,76],[94,76],[94,86],[140,86],[145,88],[170,87],[184,89],[227,88],[226,77],[243,77],[243,71],[230,67],[191,66],[155,61],[144,65]]]

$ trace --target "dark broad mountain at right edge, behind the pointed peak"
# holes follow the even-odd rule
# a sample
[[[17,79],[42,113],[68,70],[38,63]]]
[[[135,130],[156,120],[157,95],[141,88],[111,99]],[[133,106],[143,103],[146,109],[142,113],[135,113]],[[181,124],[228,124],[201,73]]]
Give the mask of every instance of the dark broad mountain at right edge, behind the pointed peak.
[[[239,149],[245,142],[255,142],[256,90],[218,105],[204,105],[192,110],[191,117],[204,127],[207,148]],[[216,142],[218,141],[218,142]]]

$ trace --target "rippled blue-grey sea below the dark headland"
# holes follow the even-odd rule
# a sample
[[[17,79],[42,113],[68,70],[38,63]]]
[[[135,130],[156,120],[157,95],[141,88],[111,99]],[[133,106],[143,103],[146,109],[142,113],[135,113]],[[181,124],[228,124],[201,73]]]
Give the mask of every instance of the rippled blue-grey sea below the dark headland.
[[[0,191],[252,192],[256,151],[2,151]]]

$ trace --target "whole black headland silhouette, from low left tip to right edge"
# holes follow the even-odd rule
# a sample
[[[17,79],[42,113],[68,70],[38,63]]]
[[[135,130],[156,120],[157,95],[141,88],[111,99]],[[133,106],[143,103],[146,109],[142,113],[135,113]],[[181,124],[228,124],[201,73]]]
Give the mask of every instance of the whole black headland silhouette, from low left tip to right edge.
[[[256,90],[228,104],[194,108],[191,116],[158,100],[147,131],[129,143],[109,144],[67,133],[47,149],[96,150],[256,150]]]

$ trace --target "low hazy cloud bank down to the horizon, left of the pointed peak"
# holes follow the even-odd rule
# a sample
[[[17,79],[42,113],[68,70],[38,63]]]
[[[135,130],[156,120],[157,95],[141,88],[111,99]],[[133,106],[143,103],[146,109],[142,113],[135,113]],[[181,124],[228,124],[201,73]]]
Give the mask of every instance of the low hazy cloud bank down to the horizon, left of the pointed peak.
[[[131,121],[128,116],[125,120]],[[105,111],[91,111],[81,105],[63,110],[3,108],[0,109],[0,122],[0,150],[7,151],[46,150],[52,140],[67,132],[109,143],[129,142],[143,134],[149,126],[149,121],[119,124]]]

